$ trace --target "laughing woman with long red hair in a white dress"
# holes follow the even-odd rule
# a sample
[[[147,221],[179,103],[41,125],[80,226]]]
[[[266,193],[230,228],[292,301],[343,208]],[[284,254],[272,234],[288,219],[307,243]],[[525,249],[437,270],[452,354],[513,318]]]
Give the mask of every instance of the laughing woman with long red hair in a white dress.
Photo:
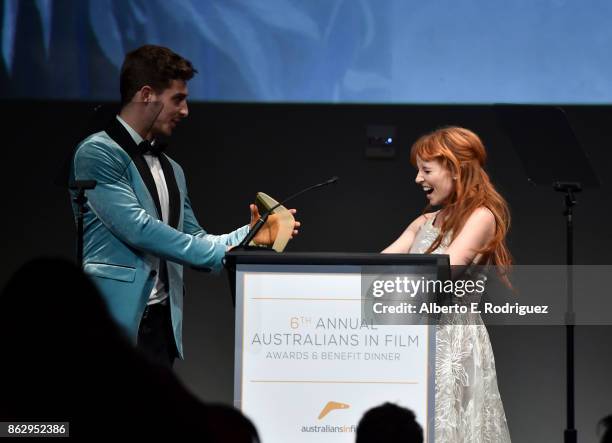
[[[480,138],[464,128],[438,129],[416,141],[410,159],[429,202],[383,253],[448,254],[451,265],[468,269],[493,265],[510,285],[510,212],[484,170]],[[479,314],[468,321],[452,315],[436,328],[435,440],[509,442],[487,330]]]

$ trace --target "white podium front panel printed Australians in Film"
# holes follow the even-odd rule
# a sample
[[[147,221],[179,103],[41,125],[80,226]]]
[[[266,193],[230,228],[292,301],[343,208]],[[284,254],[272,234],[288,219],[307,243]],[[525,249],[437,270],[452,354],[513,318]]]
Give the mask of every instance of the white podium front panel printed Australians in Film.
[[[435,327],[361,320],[357,266],[236,268],[235,406],[266,443],[353,442],[384,402],[433,441]]]

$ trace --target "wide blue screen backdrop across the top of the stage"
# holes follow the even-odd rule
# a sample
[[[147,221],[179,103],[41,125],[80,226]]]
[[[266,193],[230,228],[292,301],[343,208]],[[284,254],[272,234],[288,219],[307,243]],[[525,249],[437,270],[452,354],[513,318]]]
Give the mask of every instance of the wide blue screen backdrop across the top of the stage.
[[[610,0],[3,0],[4,98],[118,99],[124,54],[194,62],[195,100],[612,100]]]

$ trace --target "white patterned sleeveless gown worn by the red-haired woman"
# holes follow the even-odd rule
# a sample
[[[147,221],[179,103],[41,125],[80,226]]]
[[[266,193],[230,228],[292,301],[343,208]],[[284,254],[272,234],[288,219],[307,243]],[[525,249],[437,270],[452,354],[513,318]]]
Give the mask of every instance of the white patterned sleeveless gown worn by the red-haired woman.
[[[433,220],[423,224],[411,253],[424,253],[436,239]],[[432,253],[443,254],[448,241],[447,236]],[[493,349],[480,314],[448,314],[443,320],[436,327],[436,443],[510,442]]]

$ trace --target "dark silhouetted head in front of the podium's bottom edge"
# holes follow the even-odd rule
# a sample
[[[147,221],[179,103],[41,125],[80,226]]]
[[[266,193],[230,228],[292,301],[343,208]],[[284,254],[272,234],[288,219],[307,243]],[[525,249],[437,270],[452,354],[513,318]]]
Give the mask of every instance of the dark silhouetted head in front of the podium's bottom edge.
[[[367,411],[357,425],[356,443],[422,443],[423,430],[410,409],[385,403]]]

